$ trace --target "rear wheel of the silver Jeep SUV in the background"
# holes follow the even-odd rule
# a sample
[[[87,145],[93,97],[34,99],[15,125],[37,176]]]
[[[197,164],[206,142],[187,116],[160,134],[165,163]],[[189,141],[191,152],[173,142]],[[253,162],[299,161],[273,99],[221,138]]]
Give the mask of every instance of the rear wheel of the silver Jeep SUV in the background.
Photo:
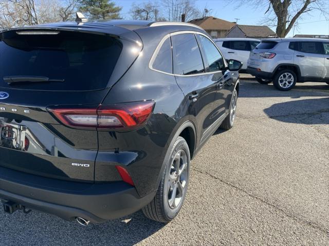
[[[296,85],[297,76],[289,69],[278,71],[273,80],[273,86],[280,91],[289,91]]]

